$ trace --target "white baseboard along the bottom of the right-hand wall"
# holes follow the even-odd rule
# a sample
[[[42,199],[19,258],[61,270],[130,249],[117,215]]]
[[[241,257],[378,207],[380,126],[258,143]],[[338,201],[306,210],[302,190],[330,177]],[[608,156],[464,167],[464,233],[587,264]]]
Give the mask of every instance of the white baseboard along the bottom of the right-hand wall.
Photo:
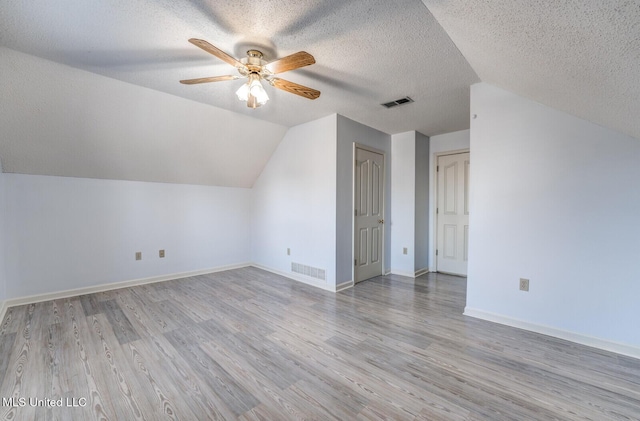
[[[575,342],[578,344],[587,345],[593,348],[603,349],[605,351],[611,351],[617,354],[640,359],[640,348],[632,345],[621,344],[618,342],[608,341],[606,339],[583,335],[581,333],[526,322],[524,320],[514,319],[511,317],[490,313],[475,308],[465,307],[464,315],[475,317],[476,319],[500,323],[511,327],[517,327],[519,329],[529,330],[531,332],[541,333],[543,335],[553,336],[555,338],[565,339],[567,341]]]

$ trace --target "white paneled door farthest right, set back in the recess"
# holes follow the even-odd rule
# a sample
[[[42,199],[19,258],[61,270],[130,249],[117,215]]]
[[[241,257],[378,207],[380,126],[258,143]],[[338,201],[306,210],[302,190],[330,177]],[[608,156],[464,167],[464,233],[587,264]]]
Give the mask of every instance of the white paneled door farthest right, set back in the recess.
[[[438,157],[436,265],[438,272],[467,276],[469,153]]]

